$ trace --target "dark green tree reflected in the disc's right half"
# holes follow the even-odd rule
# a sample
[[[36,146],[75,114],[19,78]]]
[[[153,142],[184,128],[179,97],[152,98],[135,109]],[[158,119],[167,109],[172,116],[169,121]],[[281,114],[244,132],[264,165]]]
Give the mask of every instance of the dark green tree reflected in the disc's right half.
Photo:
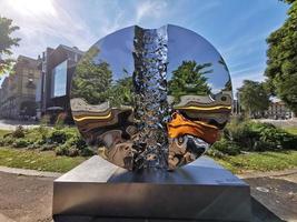
[[[196,61],[182,61],[172,71],[172,79],[168,81],[168,94],[175,97],[175,100],[187,94],[209,94],[211,89],[205,77],[206,73],[212,72],[212,70],[207,69],[209,67],[211,63],[197,64]]]

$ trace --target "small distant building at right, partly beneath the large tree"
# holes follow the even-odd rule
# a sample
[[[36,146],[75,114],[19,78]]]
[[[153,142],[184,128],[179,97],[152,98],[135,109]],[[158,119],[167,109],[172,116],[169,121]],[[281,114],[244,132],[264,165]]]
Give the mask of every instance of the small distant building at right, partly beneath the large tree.
[[[265,112],[266,118],[269,119],[290,119],[291,111],[285,105],[283,101],[271,102],[268,110]]]

